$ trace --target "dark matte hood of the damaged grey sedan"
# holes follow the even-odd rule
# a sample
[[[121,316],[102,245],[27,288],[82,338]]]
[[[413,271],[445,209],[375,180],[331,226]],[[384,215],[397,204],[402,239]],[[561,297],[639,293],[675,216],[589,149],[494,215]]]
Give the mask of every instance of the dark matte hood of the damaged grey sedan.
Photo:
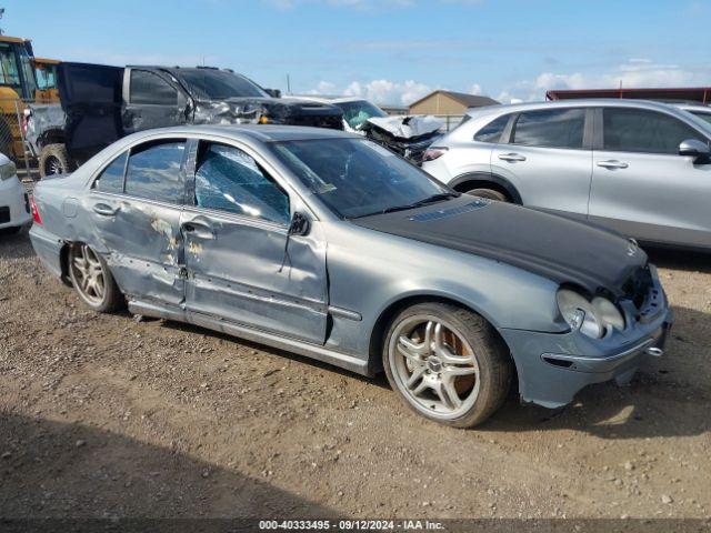
[[[352,220],[371,230],[505,262],[590,293],[625,293],[647,265],[632,241],[597,227],[504,202],[458,199]]]

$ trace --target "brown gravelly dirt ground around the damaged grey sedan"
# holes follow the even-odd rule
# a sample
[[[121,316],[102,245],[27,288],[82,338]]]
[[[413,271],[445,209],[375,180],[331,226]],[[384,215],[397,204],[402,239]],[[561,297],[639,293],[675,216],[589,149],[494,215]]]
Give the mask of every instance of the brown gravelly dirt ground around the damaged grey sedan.
[[[711,255],[653,252],[664,358],[560,412],[474,431],[384,379],[166,321],[100,315],[0,238],[2,516],[711,515]]]

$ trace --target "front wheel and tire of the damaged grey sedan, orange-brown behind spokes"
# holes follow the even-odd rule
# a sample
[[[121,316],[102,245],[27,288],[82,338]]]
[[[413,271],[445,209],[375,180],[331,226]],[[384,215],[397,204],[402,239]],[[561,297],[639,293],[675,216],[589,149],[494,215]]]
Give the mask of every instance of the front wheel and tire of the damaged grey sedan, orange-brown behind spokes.
[[[452,410],[449,418],[444,412],[435,415],[434,410],[428,410],[425,405],[420,404],[421,402],[414,398],[412,392],[404,392],[408,390],[408,386],[401,375],[403,365],[397,363],[399,355],[391,354],[393,343],[398,342],[393,336],[400,334],[397,332],[401,331],[401,324],[405,324],[409,321],[417,322],[421,316],[435,318],[434,320],[441,320],[441,323],[444,323],[447,328],[451,328],[451,331],[454,331],[457,335],[469,344],[470,351],[473,352],[473,354],[470,353],[467,356],[470,358],[473,355],[478,365],[478,375],[472,379],[472,389],[475,380],[478,379],[479,381],[479,389],[478,393],[474,394],[473,404],[468,405],[467,403],[472,400],[463,401],[462,406],[459,409],[460,411],[465,409],[465,411],[457,412],[457,410]],[[454,338],[452,336],[452,339]],[[454,343],[457,340],[454,340]],[[423,342],[421,345],[424,344],[427,344],[427,342]],[[452,352],[450,351],[450,353]],[[427,359],[431,356],[433,355]],[[404,358],[403,361],[404,360],[407,360],[407,358]],[[401,400],[410,409],[434,422],[453,428],[473,428],[489,419],[505,401],[513,375],[513,365],[509,350],[497,335],[494,329],[484,319],[457,305],[435,302],[412,305],[393,318],[387,330],[383,343],[382,363],[390,386],[399,393]],[[400,370],[398,366],[400,366]],[[442,374],[444,374],[444,372],[445,370],[442,370]],[[432,378],[430,370],[427,370],[427,373]],[[437,380],[440,374],[437,373],[437,378],[433,379]],[[459,398],[459,391],[457,394]],[[424,403],[427,403],[427,401]]]

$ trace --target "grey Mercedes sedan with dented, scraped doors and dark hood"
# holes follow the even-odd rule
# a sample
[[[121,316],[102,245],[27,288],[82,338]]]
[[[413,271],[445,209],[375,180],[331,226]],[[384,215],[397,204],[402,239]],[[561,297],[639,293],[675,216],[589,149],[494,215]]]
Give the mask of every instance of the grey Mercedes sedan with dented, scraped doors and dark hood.
[[[615,233],[460,194],[362,137],[127,137],[32,200],[34,250],[91,309],[190,322],[361,374],[454,426],[518,379],[560,406],[661,355],[654,266]]]

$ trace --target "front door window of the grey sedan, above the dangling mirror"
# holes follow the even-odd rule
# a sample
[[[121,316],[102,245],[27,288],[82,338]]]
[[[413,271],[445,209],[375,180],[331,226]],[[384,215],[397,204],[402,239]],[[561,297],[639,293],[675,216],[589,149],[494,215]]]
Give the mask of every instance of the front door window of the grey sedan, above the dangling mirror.
[[[203,144],[201,152],[198,207],[289,223],[289,197],[248,153],[223,144]]]

